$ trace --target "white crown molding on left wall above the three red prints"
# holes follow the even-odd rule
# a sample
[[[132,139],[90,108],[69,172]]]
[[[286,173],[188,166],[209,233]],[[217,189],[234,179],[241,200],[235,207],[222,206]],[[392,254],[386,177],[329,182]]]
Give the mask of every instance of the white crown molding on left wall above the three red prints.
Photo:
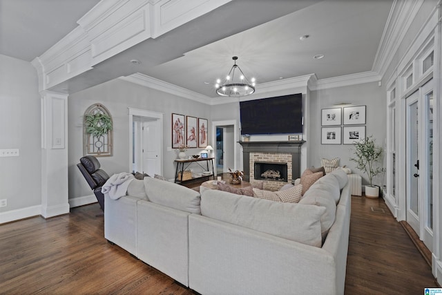
[[[210,97],[206,95],[190,91],[189,89],[164,82],[160,79],[156,79],[142,73],[135,73],[126,77],[119,77],[118,79],[122,79],[126,82],[131,82],[148,88],[153,88],[157,91],[163,91],[172,95],[184,97],[186,99],[191,99],[195,102],[202,102],[203,104],[207,104],[208,100],[210,99]]]

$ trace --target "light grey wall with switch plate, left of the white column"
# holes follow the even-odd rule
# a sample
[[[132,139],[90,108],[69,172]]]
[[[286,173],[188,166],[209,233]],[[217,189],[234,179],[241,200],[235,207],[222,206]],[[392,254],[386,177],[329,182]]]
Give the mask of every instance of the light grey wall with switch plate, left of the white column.
[[[41,204],[41,125],[35,68],[5,55],[0,65],[0,149],[19,149],[19,157],[0,158],[0,199],[8,199],[1,223],[6,211]]]

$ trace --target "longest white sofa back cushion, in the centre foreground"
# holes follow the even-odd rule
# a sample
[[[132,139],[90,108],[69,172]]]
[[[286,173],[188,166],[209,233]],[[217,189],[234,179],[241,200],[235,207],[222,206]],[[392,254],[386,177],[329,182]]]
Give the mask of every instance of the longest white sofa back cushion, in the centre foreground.
[[[324,211],[318,206],[272,202],[213,189],[201,195],[202,216],[315,247],[321,246],[320,216]]]

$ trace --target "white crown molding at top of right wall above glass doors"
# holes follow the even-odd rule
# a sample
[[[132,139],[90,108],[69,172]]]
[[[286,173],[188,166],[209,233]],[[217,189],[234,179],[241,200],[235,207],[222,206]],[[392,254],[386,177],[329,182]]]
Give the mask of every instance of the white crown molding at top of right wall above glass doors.
[[[423,1],[424,0],[394,0],[390,15],[385,24],[378,52],[374,59],[373,72],[379,73],[381,77],[385,75],[414,17],[416,17],[419,12]]]

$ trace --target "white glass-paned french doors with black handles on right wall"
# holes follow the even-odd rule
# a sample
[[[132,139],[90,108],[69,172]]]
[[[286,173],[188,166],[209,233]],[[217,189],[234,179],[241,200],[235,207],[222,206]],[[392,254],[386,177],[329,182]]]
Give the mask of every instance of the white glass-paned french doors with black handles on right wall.
[[[407,223],[432,251],[432,80],[406,99]]]

